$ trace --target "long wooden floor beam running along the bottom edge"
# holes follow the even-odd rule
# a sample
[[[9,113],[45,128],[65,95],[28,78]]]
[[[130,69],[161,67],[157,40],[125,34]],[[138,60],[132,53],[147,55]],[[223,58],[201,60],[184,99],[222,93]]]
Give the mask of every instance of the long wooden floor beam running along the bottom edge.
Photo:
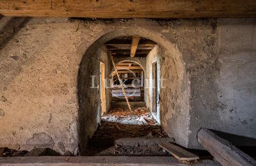
[[[204,164],[205,163],[205,164]],[[0,165],[180,165],[170,156],[37,156],[37,157],[1,157]],[[196,165],[196,163],[195,163]],[[212,160],[202,161],[199,165],[219,165]]]

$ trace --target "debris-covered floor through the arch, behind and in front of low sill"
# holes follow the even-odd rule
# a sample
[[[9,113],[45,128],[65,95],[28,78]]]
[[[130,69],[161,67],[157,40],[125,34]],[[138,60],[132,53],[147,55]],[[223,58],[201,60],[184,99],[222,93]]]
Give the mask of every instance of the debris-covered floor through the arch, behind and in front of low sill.
[[[145,146],[120,146],[114,141],[121,138],[168,137],[146,107],[111,109],[102,116],[102,121],[88,143],[88,156],[170,156],[157,144]]]

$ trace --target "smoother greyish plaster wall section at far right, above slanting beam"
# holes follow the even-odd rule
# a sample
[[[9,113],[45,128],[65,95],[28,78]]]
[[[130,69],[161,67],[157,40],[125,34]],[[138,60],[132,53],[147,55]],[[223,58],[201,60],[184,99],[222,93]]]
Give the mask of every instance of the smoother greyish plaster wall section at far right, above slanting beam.
[[[218,59],[197,82],[205,87],[195,87],[190,128],[256,139],[256,19],[220,19],[218,31]],[[189,146],[199,147],[193,137]]]

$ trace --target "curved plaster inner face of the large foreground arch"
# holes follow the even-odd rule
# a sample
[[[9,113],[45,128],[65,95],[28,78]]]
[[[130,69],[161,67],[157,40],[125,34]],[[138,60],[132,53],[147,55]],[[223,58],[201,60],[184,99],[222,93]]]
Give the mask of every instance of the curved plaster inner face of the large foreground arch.
[[[134,35],[140,35],[144,38],[153,40],[159,45],[158,48],[161,48],[161,52],[163,52],[163,54],[159,56],[159,61],[162,61],[160,70],[163,74],[161,77],[163,77],[163,80],[167,79],[170,81],[161,82],[164,87],[164,89],[161,89],[161,99],[159,99],[159,102],[161,103],[161,112],[163,113],[161,114],[161,124],[163,124],[164,130],[166,130],[166,133],[170,136],[177,135],[177,137],[182,137],[182,135],[186,135],[186,133],[176,132],[179,128],[185,128],[186,125],[179,126],[179,128],[171,126],[172,123],[178,123],[178,121],[180,121],[179,118],[177,119],[176,117],[175,121],[170,123],[173,114],[177,114],[177,112],[182,111],[186,112],[183,112],[183,115],[181,114],[180,116],[188,114],[189,105],[186,105],[186,103],[189,103],[189,94],[186,93],[184,96],[180,95],[184,89],[189,88],[187,87],[187,82],[185,82],[186,73],[181,53],[175,45],[170,42],[170,40],[157,32],[150,31],[145,28],[116,29],[115,31],[109,31],[109,33],[104,34],[90,45],[80,64],[77,87],[79,98],[79,146],[82,155],[84,154],[88,137],[92,135],[97,128],[97,123],[99,123],[99,121],[97,121],[97,115],[95,115],[95,110],[99,109],[99,99],[95,97],[99,94],[99,89],[92,89],[92,85],[90,84],[91,82],[88,81],[91,79],[92,75],[97,75],[97,68],[95,68],[95,65],[92,63],[94,61],[99,61],[99,57],[95,56],[95,52],[97,52],[99,47],[104,45],[104,43],[112,40],[113,38]],[[168,61],[168,63],[165,63],[166,61]],[[145,70],[147,70],[147,67]],[[149,73],[145,73],[145,78],[149,78]],[[145,81],[145,84],[149,84],[148,81]],[[168,98],[169,94],[172,94],[173,98]],[[150,96],[146,96],[145,98],[147,99],[146,102],[152,102],[150,101]],[[170,100],[172,100],[172,102],[170,102]],[[172,105],[172,107],[169,108],[168,105],[171,103],[174,103],[174,106]],[[176,107],[175,105],[178,105],[179,107]],[[179,141],[185,142],[186,140]]]

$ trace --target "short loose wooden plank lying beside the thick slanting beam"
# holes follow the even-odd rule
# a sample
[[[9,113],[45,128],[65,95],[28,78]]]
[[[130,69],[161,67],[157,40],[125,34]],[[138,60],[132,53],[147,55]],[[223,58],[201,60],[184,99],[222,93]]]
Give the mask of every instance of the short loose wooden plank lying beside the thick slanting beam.
[[[193,153],[190,153],[189,151],[186,151],[185,149],[182,149],[179,146],[176,146],[172,143],[161,143],[159,144],[160,147],[162,147],[164,150],[168,151],[171,155],[173,155],[175,158],[181,161],[191,161],[191,160],[199,160],[199,157],[194,155]]]

